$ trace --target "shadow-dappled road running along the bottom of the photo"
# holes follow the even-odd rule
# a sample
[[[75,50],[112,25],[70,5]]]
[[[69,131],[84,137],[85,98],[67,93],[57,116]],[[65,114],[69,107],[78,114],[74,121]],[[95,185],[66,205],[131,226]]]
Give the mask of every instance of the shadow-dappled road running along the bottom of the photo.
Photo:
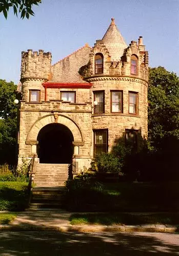
[[[179,255],[179,234],[2,231],[0,255],[173,256]]]

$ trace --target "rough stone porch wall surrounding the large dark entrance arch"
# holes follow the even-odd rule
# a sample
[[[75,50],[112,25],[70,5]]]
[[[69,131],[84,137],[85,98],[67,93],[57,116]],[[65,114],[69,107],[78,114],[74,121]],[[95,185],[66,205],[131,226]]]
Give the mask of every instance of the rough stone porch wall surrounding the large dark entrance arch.
[[[78,170],[83,170],[87,163],[89,168],[92,141],[90,103],[81,105],[56,101],[43,104],[21,102],[19,163],[22,157],[28,159],[33,155],[33,145],[37,144],[37,135],[41,128],[55,122],[52,112],[58,115],[57,123],[66,125],[73,133],[74,146],[79,147],[76,155]]]

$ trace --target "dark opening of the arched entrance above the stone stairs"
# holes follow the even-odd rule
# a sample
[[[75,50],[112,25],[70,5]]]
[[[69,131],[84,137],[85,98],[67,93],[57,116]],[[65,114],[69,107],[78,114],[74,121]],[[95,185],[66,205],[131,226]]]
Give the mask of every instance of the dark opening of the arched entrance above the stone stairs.
[[[40,163],[68,164],[73,156],[73,134],[59,123],[44,126],[37,136],[37,155]]]

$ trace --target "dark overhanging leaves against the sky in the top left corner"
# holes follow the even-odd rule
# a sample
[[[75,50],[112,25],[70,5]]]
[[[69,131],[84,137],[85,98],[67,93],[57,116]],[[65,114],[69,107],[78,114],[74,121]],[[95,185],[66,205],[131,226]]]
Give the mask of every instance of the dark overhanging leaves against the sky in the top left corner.
[[[19,12],[21,18],[29,18],[30,15],[34,16],[32,6],[39,3],[41,0],[0,0],[0,13],[3,12],[7,18],[9,9],[13,8],[14,15],[17,16],[17,12]]]

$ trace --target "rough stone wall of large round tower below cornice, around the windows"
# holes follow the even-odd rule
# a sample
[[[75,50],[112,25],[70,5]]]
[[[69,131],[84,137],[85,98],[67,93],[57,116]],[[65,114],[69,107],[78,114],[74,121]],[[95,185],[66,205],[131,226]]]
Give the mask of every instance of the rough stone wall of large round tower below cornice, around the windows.
[[[91,79],[92,80],[92,79]],[[103,77],[92,82],[91,97],[95,91],[105,92],[105,113],[92,115],[93,129],[108,129],[109,151],[121,139],[124,141],[125,129],[134,129],[140,132],[140,141],[147,139],[147,87],[148,83],[137,78],[116,77],[113,80]],[[123,112],[111,112],[111,90],[120,90],[123,93]],[[137,114],[129,114],[129,91],[138,93]]]

